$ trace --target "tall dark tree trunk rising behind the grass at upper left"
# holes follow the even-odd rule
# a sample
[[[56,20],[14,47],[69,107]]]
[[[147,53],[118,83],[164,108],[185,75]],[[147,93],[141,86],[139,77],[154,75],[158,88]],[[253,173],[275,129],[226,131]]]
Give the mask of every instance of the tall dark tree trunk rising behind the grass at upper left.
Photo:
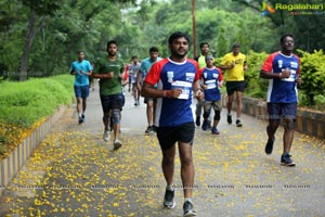
[[[27,26],[27,31],[26,31],[26,40],[24,44],[24,50],[23,50],[23,55],[21,58],[21,71],[20,71],[20,80],[24,81],[27,79],[27,68],[28,68],[28,58],[29,58],[29,52],[30,48],[32,44],[32,40],[36,35],[35,30],[35,24],[37,21],[37,15],[35,10],[31,10],[29,14],[29,20],[28,20],[28,26]]]

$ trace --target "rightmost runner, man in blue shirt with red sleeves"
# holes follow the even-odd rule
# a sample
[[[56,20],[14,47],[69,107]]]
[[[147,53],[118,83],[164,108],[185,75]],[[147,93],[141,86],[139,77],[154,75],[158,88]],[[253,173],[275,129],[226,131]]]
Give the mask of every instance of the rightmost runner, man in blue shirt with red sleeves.
[[[295,166],[290,158],[290,149],[294,140],[295,122],[297,117],[298,91],[297,84],[301,84],[300,59],[292,53],[294,36],[284,35],[281,40],[282,50],[269,55],[265,60],[260,77],[269,80],[268,89],[268,113],[269,126],[266,127],[268,142],[265,153],[271,154],[275,140],[275,132],[283,119],[284,151],[281,156],[281,165]]]

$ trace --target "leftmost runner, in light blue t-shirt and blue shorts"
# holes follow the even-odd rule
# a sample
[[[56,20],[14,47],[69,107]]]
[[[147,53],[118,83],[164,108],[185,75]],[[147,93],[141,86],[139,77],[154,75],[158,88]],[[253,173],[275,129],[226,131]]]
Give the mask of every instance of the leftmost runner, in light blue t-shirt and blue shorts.
[[[78,123],[86,120],[84,111],[87,107],[87,98],[89,95],[89,76],[92,74],[92,66],[84,60],[84,52],[78,51],[78,61],[74,61],[70,66],[70,75],[75,76],[75,95],[77,99]]]

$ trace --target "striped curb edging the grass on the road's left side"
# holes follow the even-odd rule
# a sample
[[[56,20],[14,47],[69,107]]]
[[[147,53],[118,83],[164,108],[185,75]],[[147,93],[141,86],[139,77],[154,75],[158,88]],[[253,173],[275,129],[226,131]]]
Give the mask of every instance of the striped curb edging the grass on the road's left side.
[[[0,196],[21,167],[29,158],[35,148],[44,139],[52,126],[66,112],[67,107],[67,105],[58,106],[54,114],[49,116],[29,137],[24,139],[8,157],[0,162]]]

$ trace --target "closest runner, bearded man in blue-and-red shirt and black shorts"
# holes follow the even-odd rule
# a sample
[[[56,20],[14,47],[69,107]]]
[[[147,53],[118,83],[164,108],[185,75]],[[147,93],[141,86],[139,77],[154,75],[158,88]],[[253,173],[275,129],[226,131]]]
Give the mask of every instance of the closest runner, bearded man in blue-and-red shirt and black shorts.
[[[141,94],[157,98],[157,138],[162,152],[162,171],[167,182],[164,206],[173,208],[173,169],[176,144],[180,152],[182,183],[184,188],[184,216],[196,216],[192,204],[194,166],[192,145],[195,125],[191,108],[192,95],[203,99],[199,86],[198,64],[186,59],[188,37],[174,33],[169,37],[170,58],[164,59],[151,67],[144,79]],[[155,85],[157,84],[157,88]]]

